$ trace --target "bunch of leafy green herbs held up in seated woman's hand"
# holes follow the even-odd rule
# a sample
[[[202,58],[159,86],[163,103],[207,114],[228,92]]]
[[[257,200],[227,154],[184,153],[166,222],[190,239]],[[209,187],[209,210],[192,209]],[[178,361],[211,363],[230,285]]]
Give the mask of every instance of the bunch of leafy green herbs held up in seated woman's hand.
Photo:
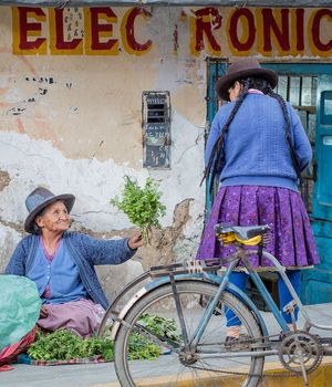
[[[159,217],[165,216],[166,207],[160,202],[162,192],[157,184],[147,178],[145,187],[141,188],[136,180],[125,176],[122,199],[111,199],[111,205],[122,210],[135,226],[142,230],[142,237],[149,243],[153,227],[160,227]]]

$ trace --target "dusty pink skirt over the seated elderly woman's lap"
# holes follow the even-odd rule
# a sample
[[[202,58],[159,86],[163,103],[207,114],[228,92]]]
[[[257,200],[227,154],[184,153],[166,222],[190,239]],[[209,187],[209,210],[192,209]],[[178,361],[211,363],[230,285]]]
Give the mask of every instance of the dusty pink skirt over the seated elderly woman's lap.
[[[45,331],[65,328],[85,338],[98,330],[105,313],[91,300],[71,301],[64,304],[48,304],[49,315],[37,324]]]

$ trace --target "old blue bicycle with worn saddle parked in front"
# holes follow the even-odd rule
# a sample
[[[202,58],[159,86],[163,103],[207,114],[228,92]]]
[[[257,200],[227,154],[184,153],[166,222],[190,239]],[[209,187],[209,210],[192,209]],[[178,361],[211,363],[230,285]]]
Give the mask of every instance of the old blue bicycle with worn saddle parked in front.
[[[317,369],[324,355],[332,355],[332,337],[311,334],[310,330],[332,331],[332,326],[311,322],[293,290],[284,268],[269,252],[263,251],[269,227],[216,226],[218,239],[232,243],[235,253],[225,260],[194,261],[153,266],[134,280],[107,310],[101,331],[112,317],[115,339],[115,369],[123,387],[135,386],[241,386],[256,387],[264,375],[264,358],[277,357],[292,375],[302,375],[309,386],[308,374]],[[245,245],[257,247],[246,251]],[[256,249],[256,248],[255,248]],[[290,331],[282,314],[267,291],[248,255],[268,258],[286,282],[293,301],[286,310],[292,315]],[[269,335],[264,318],[255,303],[241,290],[229,283],[229,275],[239,263],[248,271],[259,293],[271,310],[281,334]],[[224,265],[224,266],[222,266]],[[216,271],[224,268],[222,275]],[[143,281],[149,280],[120,312],[120,300]],[[304,317],[299,330],[294,307]],[[225,314],[231,310],[241,323],[241,335],[226,342]],[[175,330],[158,332],[142,323],[146,314],[172,317]],[[154,360],[131,359],[131,339],[141,335],[160,348]]]

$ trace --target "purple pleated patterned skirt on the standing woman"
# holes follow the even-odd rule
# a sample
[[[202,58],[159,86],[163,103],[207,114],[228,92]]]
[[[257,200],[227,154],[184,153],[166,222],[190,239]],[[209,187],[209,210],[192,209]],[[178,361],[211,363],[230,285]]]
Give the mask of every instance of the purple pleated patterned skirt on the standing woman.
[[[231,245],[221,247],[216,239],[217,223],[232,226],[269,224],[271,231],[266,251],[289,268],[304,268],[319,263],[310,220],[300,194],[287,188],[262,186],[221,187],[215,199],[209,220],[196,259],[227,258]],[[257,249],[246,247],[248,250]],[[250,255],[255,268],[267,268],[272,263],[264,257]]]

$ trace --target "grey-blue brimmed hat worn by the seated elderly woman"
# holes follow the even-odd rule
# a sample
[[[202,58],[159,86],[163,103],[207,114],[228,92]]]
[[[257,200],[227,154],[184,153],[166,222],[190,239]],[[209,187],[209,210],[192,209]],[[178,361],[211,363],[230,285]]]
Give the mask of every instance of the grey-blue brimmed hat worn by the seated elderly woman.
[[[71,194],[54,195],[46,188],[35,188],[25,199],[25,207],[29,212],[24,222],[24,230],[30,233],[35,232],[34,218],[46,206],[54,201],[61,200],[70,212],[74,206],[75,197]]]

